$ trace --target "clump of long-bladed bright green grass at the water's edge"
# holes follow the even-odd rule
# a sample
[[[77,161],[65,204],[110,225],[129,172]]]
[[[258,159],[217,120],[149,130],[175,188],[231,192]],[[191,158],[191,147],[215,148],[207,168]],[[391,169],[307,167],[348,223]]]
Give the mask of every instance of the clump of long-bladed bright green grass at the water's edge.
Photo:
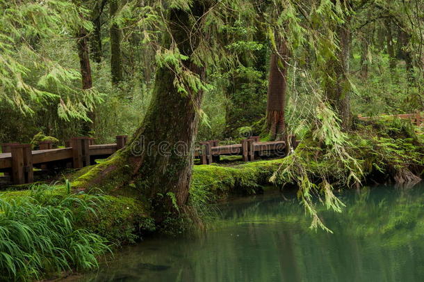
[[[76,227],[83,214],[95,216],[101,196],[54,196],[44,190],[19,202],[0,196],[0,281],[93,269],[97,256],[110,251],[103,237]]]

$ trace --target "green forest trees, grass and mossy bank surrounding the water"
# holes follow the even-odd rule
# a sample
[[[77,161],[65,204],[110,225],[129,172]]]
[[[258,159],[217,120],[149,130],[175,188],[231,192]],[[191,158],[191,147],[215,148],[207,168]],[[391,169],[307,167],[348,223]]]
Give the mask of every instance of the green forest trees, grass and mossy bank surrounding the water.
[[[0,8],[0,143],[131,135],[49,187],[0,192],[1,279],[96,267],[114,246],[204,226],[210,203],[264,187],[297,191],[311,227],[331,232],[318,210],[343,212],[339,190],[423,176],[423,123],[382,116],[424,110],[419,0]],[[193,166],[196,141],[256,135],[286,141],[286,156]]]

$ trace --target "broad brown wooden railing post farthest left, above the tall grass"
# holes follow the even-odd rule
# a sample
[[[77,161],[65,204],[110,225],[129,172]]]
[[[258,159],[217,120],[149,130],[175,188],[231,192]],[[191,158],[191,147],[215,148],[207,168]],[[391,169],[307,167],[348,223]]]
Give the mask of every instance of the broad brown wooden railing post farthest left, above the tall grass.
[[[34,182],[31,144],[11,146],[13,184]]]

